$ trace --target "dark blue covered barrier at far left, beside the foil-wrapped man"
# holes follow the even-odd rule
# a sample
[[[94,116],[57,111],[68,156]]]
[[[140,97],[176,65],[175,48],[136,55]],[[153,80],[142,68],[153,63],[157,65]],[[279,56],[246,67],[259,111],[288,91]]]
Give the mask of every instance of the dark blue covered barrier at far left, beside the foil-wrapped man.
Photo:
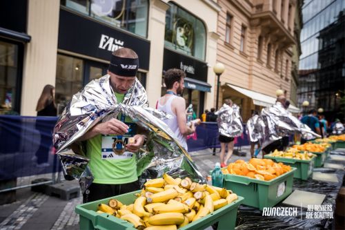
[[[0,116],[0,193],[60,180],[52,148],[56,122],[57,117]],[[31,184],[38,177],[50,180]]]

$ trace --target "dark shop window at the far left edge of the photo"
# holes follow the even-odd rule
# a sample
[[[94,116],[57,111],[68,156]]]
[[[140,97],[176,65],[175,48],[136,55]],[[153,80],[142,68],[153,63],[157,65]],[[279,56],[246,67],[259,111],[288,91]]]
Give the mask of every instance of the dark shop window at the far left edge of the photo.
[[[19,113],[18,57],[19,45],[0,41],[0,114]]]

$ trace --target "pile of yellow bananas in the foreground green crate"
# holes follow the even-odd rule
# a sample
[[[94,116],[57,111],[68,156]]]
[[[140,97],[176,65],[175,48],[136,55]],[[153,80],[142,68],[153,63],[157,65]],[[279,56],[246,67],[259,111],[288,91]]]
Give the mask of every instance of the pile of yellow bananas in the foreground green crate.
[[[174,230],[237,200],[237,195],[225,188],[198,184],[190,178],[174,179],[168,174],[149,180],[135,195],[134,204],[110,199],[108,204],[99,204],[97,213],[115,215],[136,229]]]

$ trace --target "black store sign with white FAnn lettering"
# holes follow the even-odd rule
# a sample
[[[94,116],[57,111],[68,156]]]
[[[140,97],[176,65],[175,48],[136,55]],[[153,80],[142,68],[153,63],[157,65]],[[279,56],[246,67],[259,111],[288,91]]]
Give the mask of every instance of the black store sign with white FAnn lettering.
[[[139,68],[148,70],[150,41],[60,9],[58,48],[110,60],[112,51],[131,48],[139,56]]]

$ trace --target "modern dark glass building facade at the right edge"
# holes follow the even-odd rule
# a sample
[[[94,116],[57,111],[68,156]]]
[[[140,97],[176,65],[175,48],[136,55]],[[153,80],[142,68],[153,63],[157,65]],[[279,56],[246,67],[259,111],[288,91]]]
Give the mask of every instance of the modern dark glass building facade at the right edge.
[[[304,1],[302,12],[298,104],[322,108],[331,122],[345,119],[345,1]]]

